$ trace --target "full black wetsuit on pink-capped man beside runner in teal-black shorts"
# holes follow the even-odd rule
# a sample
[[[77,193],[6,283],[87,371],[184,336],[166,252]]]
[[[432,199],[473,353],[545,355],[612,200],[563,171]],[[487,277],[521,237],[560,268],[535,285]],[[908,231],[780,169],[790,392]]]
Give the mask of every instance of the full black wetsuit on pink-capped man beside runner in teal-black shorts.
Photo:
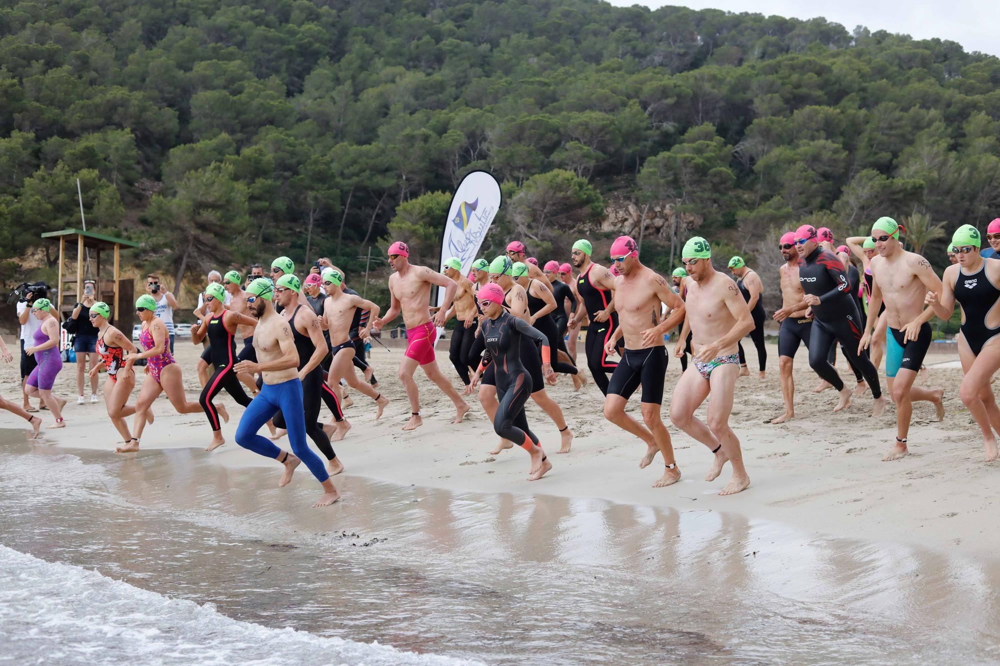
[[[851,286],[840,258],[829,250],[817,247],[799,266],[799,281],[805,293],[819,296],[819,305],[812,306],[813,326],[809,340],[809,365],[834,389],[841,391],[844,382],[830,364],[830,349],[840,342],[844,356],[861,370],[872,396],[882,396],[878,372],[867,355],[858,356],[861,341],[861,315],[848,293]]]

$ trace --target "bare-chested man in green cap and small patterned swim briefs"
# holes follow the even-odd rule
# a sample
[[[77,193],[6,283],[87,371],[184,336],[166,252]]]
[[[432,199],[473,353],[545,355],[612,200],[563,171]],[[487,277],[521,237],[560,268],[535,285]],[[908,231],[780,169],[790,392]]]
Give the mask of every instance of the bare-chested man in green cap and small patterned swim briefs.
[[[720,495],[732,495],[750,486],[740,440],[729,427],[729,414],[733,410],[740,367],[737,343],[753,330],[753,317],[736,283],[715,270],[711,257],[708,241],[698,236],[688,240],[681,251],[681,261],[688,272],[686,315],[674,356],[684,353],[690,331],[694,362],[674,388],[670,420],[715,454],[706,481],[714,481],[722,473],[723,465],[727,461],[732,463],[733,477],[719,491]],[[707,424],[694,415],[706,398]]]

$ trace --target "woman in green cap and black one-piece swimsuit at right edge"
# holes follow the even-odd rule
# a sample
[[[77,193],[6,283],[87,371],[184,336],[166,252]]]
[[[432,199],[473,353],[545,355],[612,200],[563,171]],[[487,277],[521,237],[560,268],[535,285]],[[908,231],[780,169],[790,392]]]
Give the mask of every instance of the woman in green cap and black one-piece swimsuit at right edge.
[[[1000,369],[1000,260],[979,254],[982,236],[971,224],[963,224],[951,237],[951,251],[958,263],[944,269],[942,292],[927,292],[924,302],[934,314],[948,321],[955,303],[962,306],[962,329],[958,335],[958,356],[965,378],[958,395],[969,408],[983,433],[986,462],[997,459],[1000,409],[993,397],[990,380]]]

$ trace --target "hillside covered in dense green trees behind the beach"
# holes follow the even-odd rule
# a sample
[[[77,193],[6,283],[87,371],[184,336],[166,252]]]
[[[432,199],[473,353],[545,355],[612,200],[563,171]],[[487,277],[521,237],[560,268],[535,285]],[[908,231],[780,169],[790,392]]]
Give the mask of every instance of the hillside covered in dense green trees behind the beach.
[[[0,9],[0,279],[44,231],[139,240],[176,280],[405,233],[503,182],[539,256],[606,202],[753,254],[880,215],[941,254],[1000,216],[1000,60],[941,40],[596,0],[53,0]],[[943,225],[943,226],[942,226]],[[663,235],[649,239],[667,252]],[[933,261],[940,264],[942,256]],[[661,260],[669,267],[669,256]],[[20,274],[20,273],[18,273]]]

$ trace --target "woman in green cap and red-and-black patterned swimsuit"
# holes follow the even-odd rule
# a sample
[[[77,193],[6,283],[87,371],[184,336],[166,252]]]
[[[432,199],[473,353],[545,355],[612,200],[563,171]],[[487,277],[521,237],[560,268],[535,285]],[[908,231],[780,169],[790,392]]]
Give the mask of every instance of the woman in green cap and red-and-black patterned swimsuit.
[[[135,414],[135,406],[127,405],[128,398],[135,388],[135,372],[125,372],[123,367],[125,352],[135,354],[138,350],[124,333],[108,323],[111,308],[107,303],[97,301],[90,306],[90,323],[97,328],[97,355],[100,361],[90,369],[90,376],[96,377],[101,368],[107,372],[104,380],[104,406],[108,417],[114,424],[122,440],[127,446],[132,442],[132,433],[125,419]],[[146,410],[147,420],[153,422],[153,411]]]

